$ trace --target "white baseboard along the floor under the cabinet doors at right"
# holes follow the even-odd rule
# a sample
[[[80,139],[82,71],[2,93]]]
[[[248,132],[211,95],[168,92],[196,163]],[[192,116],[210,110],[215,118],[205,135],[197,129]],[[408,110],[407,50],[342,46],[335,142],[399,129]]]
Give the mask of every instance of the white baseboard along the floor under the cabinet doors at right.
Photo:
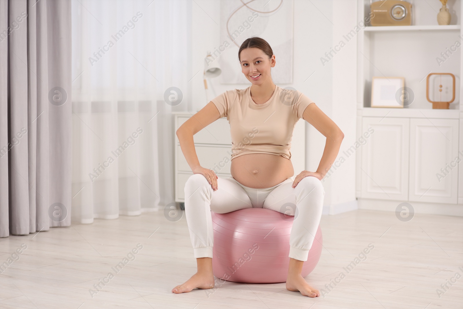
[[[369,198],[358,198],[358,209],[381,210],[395,212],[395,208],[402,202],[407,201],[388,201]],[[463,205],[458,204],[439,204],[425,202],[407,202],[412,205],[415,214],[443,214],[451,216],[463,216]]]

